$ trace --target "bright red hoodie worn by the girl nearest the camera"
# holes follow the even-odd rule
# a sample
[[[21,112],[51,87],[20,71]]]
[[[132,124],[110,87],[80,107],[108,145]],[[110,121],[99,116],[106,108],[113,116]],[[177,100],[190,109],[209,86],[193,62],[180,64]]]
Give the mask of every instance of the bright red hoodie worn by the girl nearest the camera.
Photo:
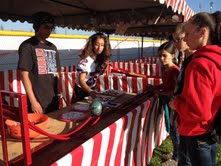
[[[188,64],[182,93],[174,100],[178,130],[183,136],[207,133],[221,106],[221,47],[207,45],[197,50]]]

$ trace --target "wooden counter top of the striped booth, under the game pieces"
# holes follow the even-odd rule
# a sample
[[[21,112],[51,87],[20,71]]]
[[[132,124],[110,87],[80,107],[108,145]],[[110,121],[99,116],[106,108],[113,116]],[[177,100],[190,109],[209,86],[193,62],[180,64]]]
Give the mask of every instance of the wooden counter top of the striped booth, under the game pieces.
[[[118,108],[109,109],[104,115],[101,116],[98,123],[94,126],[91,124],[85,126],[83,129],[75,133],[71,139],[67,141],[53,140],[46,136],[40,135],[39,137],[31,140],[31,148],[33,151],[32,160],[33,165],[50,165],[57,161],[65,154],[71,152],[76,147],[80,146],[86,140],[93,137],[95,134],[106,128],[133,108],[137,107],[148,96],[136,94],[126,94],[120,98],[117,98],[115,102],[122,103]],[[84,102],[82,102],[84,104]],[[68,133],[73,130],[77,125],[74,122],[63,122],[58,120],[61,114],[68,112],[72,109],[72,105],[63,108],[59,111],[49,113],[49,122],[46,131],[52,134]],[[94,117],[93,119],[95,119]],[[8,152],[9,160],[14,160],[22,154],[22,145],[19,140],[8,137]],[[46,146],[47,145],[47,146]],[[43,147],[43,148],[42,148]],[[0,165],[2,162],[2,151],[0,151]],[[22,161],[16,162],[13,165],[23,165]]]

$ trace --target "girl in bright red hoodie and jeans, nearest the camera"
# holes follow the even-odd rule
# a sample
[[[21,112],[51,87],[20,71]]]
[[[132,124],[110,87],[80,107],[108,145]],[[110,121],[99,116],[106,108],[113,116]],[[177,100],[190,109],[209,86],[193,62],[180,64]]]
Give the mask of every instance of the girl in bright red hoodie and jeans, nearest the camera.
[[[216,165],[217,144],[210,124],[221,106],[221,12],[198,13],[187,22],[184,40],[196,50],[184,75],[182,93],[170,107],[192,166]]]

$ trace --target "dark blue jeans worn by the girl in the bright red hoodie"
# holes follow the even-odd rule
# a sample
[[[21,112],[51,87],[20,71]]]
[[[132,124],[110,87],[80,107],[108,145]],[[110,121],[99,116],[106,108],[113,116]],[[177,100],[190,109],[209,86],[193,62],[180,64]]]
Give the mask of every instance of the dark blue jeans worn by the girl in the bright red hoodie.
[[[210,133],[199,136],[180,136],[180,147],[186,147],[192,166],[215,166],[218,144],[215,143]],[[182,149],[180,149],[182,152]],[[187,156],[188,157],[188,156]],[[186,165],[184,165],[186,166]]]

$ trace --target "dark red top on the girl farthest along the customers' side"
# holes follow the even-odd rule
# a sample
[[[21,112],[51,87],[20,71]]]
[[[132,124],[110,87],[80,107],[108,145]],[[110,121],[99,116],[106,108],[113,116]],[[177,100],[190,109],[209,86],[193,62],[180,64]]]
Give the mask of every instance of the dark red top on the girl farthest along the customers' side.
[[[162,67],[162,80],[164,92],[174,91],[179,71],[180,69],[178,66],[174,66],[173,68],[170,68],[168,70]]]

